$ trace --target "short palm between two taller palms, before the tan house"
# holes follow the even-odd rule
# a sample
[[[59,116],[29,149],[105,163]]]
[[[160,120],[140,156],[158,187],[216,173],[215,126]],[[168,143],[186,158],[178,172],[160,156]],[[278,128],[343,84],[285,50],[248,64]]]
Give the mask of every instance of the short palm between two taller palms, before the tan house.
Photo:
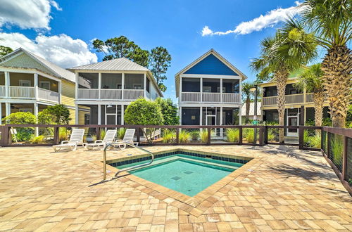
[[[306,88],[306,91],[313,93],[314,111],[315,111],[315,126],[320,127],[322,125],[322,109],[324,104],[324,86],[322,85],[322,72],[321,64],[315,64],[302,72],[298,82],[294,84],[297,89]]]

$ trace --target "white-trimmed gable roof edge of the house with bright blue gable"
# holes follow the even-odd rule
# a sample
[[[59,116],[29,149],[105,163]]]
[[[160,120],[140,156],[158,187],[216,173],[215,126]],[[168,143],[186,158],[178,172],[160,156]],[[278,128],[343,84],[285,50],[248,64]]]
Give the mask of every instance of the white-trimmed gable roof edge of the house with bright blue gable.
[[[176,96],[178,97],[179,94],[179,88],[180,88],[180,75],[182,74],[186,74],[187,71],[191,70],[192,67],[194,67],[195,65],[201,63],[202,60],[205,60],[206,58],[208,58],[208,56],[213,56],[215,58],[217,58],[218,60],[220,60],[222,62],[223,65],[225,65],[227,68],[229,68],[230,70],[232,70],[232,72],[234,72],[234,75],[238,75],[239,77],[241,77],[242,81],[244,79],[247,79],[246,75],[244,75],[244,73],[242,73],[240,70],[237,69],[237,67],[234,67],[234,65],[232,65],[232,63],[230,63],[229,61],[227,61],[225,58],[223,58],[218,52],[216,52],[214,49],[210,49],[209,51],[207,51],[206,53],[204,53],[201,57],[197,58],[196,60],[194,60],[192,63],[190,63],[189,65],[187,65],[186,67],[184,67],[180,72],[177,72],[177,74],[175,75],[175,84],[176,84]],[[197,73],[197,74],[202,74],[202,73]],[[211,75],[211,74],[210,74]],[[230,75],[230,74],[227,74]],[[233,75],[233,74],[232,74]]]

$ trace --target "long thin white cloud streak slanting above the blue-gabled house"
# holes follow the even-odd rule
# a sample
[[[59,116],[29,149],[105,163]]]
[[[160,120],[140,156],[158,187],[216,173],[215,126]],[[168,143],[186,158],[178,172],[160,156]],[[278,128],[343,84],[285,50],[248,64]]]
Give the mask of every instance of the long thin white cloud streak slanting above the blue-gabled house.
[[[301,3],[296,1],[295,4],[296,6],[277,8],[269,11],[265,15],[260,15],[258,18],[253,18],[253,20],[241,22],[234,30],[227,30],[226,32],[213,32],[208,26],[205,26],[203,27],[201,35],[205,37],[208,35],[250,34],[251,32],[263,30],[266,27],[273,27],[278,22],[287,20],[289,15],[296,15],[302,11],[302,8],[298,8]]]

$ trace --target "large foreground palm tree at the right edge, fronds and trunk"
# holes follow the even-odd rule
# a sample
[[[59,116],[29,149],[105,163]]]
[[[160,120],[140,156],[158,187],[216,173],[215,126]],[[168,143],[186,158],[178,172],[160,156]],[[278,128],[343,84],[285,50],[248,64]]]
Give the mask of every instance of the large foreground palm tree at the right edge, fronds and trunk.
[[[315,32],[315,41],[327,49],[322,61],[323,85],[327,90],[333,127],[345,127],[351,101],[352,37],[351,0],[306,0],[301,22]]]

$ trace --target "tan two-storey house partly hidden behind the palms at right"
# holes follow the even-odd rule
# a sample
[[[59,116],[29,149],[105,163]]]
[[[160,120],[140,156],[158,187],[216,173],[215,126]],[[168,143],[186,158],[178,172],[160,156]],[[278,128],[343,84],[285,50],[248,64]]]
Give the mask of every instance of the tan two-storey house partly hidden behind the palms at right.
[[[299,91],[294,87],[294,83],[298,82],[299,73],[292,74],[287,79],[285,90],[285,115],[284,124],[287,126],[304,125],[308,120],[314,120],[314,103],[313,93],[308,93],[306,89]],[[261,114],[263,121],[278,122],[279,115],[277,111],[277,86],[275,78],[270,82],[259,84],[261,93],[263,93],[261,103]],[[328,103],[325,101],[323,117],[329,117]],[[286,136],[298,136],[297,129],[287,129]]]

